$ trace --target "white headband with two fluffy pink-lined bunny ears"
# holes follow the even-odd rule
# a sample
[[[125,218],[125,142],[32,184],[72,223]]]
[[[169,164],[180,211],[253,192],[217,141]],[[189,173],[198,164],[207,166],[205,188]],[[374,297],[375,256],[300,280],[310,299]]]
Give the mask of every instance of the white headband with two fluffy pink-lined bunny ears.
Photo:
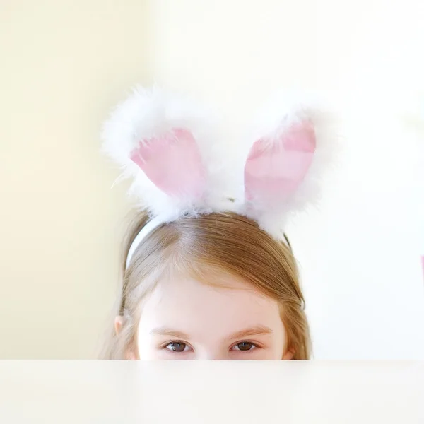
[[[234,211],[277,240],[289,213],[317,200],[334,151],[324,112],[289,98],[264,111],[239,158],[225,165],[223,140],[189,100],[136,88],[105,123],[103,150],[132,177],[130,189],[151,220],[126,259],[163,223]]]

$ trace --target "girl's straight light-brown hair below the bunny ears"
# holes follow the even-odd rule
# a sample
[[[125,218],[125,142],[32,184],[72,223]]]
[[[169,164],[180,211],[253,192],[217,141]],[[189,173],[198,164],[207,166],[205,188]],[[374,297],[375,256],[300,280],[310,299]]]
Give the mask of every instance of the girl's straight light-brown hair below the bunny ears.
[[[160,225],[136,249],[126,269],[131,242],[148,222],[146,213],[136,216],[124,240],[122,290],[116,315],[122,329],[111,328],[101,358],[124,359],[136,349],[136,333],[142,302],[164,273],[185,272],[211,283],[204,271],[230,273],[281,305],[286,345],[294,358],[310,358],[310,331],[298,269],[289,246],[274,240],[254,220],[236,213],[211,213],[182,217]],[[111,326],[113,327],[113,326]],[[283,353],[281,353],[283,357]]]

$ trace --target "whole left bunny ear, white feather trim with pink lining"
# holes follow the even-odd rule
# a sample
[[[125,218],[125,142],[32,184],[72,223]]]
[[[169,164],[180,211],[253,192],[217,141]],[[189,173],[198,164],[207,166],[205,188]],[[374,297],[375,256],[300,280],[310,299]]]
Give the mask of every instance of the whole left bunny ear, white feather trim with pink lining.
[[[163,222],[206,211],[220,184],[208,117],[185,98],[137,87],[114,110],[103,132],[103,150],[134,177],[130,193]],[[213,192],[215,190],[215,192]]]

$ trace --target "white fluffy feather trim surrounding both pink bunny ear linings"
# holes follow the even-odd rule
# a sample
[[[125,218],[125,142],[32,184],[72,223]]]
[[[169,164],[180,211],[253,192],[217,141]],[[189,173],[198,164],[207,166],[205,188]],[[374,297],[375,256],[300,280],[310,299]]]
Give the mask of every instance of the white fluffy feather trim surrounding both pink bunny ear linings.
[[[299,100],[297,93],[281,93],[264,108],[257,126],[250,131],[239,157],[228,163],[224,138],[211,119],[211,113],[188,98],[167,95],[159,88],[136,87],[119,104],[102,130],[102,150],[122,167],[122,178],[134,179],[129,195],[140,208],[146,208],[158,222],[170,222],[182,214],[235,211],[257,220],[261,228],[278,240],[290,214],[316,205],[322,192],[322,178],[336,155],[338,135],[336,119],[328,105],[317,107],[314,98]],[[245,202],[244,167],[249,150],[259,139],[277,139],[295,122],[309,119],[314,124],[317,147],[312,165],[298,190],[290,199],[276,199],[272,208]],[[206,169],[204,197],[197,204],[192,199],[175,199],[160,191],[130,159],[139,141],[159,136],[173,128],[192,132]],[[230,201],[229,197],[235,199]],[[248,206],[248,207],[247,207]]]

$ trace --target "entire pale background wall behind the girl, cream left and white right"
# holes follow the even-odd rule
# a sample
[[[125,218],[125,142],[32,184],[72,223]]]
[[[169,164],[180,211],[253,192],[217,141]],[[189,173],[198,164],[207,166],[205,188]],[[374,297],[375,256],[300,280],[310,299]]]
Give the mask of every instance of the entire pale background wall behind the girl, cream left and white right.
[[[110,190],[117,172],[99,155],[99,128],[127,88],[153,78],[223,112],[232,153],[276,88],[331,94],[346,116],[344,172],[322,212],[290,229],[316,351],[324,358],[424,357],[414,259],[423,254],[423,204],[405,172],[418,163],[409,157],[397,165],[400,182],[390,177],[396,141],[406,142],[402,119],[416,119],[424,94],[424,9],[420,0],[387,3],[2,1],[0,358],[93,357],[113,302],[126,211],[125,187]],[[378,178],[370,158],[379,160]],[[393,208],[401,195],[413,216]],[[375,216],[383,217],[378,225]],[[388,234],[401,252],[389,249]],[[394,346],[404,336],[415,344]]]

